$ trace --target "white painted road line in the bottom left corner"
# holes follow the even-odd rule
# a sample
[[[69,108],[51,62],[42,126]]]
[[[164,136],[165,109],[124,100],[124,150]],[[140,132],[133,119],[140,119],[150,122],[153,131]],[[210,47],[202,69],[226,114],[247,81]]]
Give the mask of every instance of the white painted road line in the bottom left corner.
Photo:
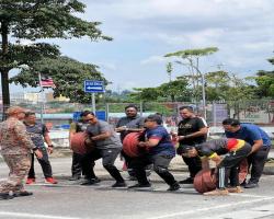
[[[16,218],[38,218],[38,219],[83,219],[83,218],[73,218],[73,217],[37,215],[37,214],[27,214],[27,212],[9,212],[9,211],[0,211],[0,216],[16,217]]]

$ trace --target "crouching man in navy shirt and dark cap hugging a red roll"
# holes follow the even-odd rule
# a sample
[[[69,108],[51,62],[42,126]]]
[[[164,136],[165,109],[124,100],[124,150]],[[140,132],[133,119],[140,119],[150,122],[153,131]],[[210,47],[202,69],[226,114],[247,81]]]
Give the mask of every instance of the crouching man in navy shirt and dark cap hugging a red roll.
[[[153,164],[155,172],[170,186],[168,191],[178,191],[179,183],[169,172],[168,166],[172,158],[175,157],[175,149],[171,142],[170,135],[160,124],[162,119],[158,115],[150,115],[145,119],[145,141],[139,142],[140,148],[146,148],[147,153],[133,159],[133,169],[136,173],[138,184],[129,188],[150,187],[146,175],[146,166]]]

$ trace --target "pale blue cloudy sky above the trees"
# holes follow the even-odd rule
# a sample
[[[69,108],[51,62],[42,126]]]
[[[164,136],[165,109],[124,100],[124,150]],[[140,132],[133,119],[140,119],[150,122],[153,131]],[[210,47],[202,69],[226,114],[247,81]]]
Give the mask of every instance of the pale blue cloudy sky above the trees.
[[[176,50],[218,47],[201,59],[203,72],[222,70],[240,77],[271,70],[274,57],[274,0],[81,0],[84,20],[112,42],[54,39],[62,55],[95,64],[115,91],[168,82],[163,56]],[[173,65],[172,79],[187,73]],[[11,92],[20,87],[11,85]]]

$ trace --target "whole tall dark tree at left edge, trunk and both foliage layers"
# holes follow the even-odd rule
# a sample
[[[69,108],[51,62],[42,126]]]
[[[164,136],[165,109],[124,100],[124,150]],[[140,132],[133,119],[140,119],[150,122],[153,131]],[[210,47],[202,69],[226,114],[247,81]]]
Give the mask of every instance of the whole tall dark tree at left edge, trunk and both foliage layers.
[[[59,55],[57,46],[35,41],[82,36],[92,41],[111,39],[98,28],[100,22],[88,22],[77,16],[85,8],[78,0],[1,0],[0,8],[0,72],[4,105],[10,104],[11,69],[21,69],[25,65],[32,67],[42,58]],[[22,39],[32,43],[25,46]]]

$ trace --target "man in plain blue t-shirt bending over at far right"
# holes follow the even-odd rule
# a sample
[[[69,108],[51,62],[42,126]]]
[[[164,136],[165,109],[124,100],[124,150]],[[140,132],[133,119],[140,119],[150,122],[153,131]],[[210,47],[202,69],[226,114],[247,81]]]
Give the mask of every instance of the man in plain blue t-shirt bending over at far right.
[[[271,148],[271,139],[267,134],[253,124],[243,124],[233,118],[222,120],[227,138],[238,138],[249,142],[252,150],[248,157],[251,166],[251,177],[246,184],[246,188],[258,187],[259,180],[262,175],[265,161]]]

